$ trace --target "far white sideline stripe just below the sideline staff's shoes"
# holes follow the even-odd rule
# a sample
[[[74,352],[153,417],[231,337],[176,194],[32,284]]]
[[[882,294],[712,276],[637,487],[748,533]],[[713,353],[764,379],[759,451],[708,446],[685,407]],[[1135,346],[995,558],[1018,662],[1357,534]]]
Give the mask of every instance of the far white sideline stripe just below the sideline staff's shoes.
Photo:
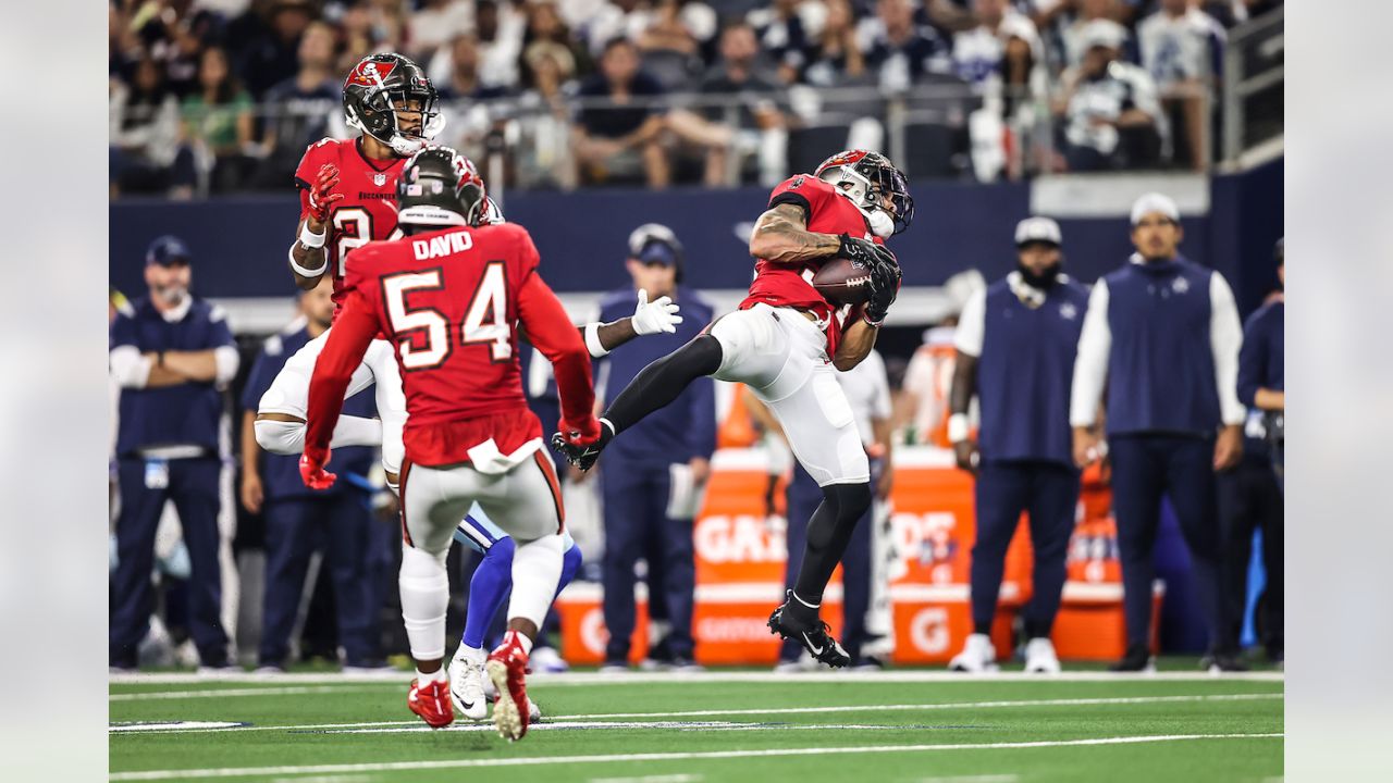
[[[244,683],[270,685],[333,685],[350,687],[362,683],[396,683],[407,684],[414,674],[411,672],[386,672],[380,674],[340,674],[305,673],[305,674],[258,674],[255,672],[235,672],[217,674],[195,673],[135,673],[110,674],[110,685],[196,685],[208,683]],[[1237,672],[1220,676],[1208,672],[1153,672],[1148,674],[1126,672],[1064,672],[1061,674],[1027,674],[1024,672],[996,672],[988,674],[968,674],[965,672],[935,670],[890,670],[890,672],[800,672],[790,674],[775,674],[773,672],[628,672],[624,674],[600,674],[598,672],[566,672],[561,674],[538,673],[528,677],[528,683],[538,685],[649,685],[673,683],[710,683],[710,684],[741,684],[741,683],[1155,683],[1155,681],[1261,681],[1282,683],[1284,672]]]

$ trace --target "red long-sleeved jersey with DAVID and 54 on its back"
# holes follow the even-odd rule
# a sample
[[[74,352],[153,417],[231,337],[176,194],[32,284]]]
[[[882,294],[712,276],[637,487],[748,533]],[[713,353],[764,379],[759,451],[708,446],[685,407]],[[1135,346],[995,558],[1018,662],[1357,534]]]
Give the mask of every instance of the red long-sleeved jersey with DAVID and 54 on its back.
[[[352,252],[344,308],[315,365],[306,443],[327,446],[343,393],[372,337],[393,344],[407,396],[407,458],[423,465],[540,449],[518,369],[517,325],[556,365],[563,414],[593,410],[591,361],[579,332],[536,273],[536,247],[517,224],[450,227]],[[330,383],[322,383],[329,380]],[[521,450],[521,451],[520,451]],[[481,470],[483,470],[481,467]]]

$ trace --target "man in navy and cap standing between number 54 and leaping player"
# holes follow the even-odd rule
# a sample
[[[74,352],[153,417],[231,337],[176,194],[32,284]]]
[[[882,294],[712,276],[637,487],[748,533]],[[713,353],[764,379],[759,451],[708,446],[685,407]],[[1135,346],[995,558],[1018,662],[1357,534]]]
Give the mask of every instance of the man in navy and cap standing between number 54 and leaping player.
[[[603,65],[602,65],[603,67]],[[632,287],[614,291],[600,304],[600,319],[617,320],[634,312],[634,291],[653,300],[671,297],[683,308],[676,333],[653,334],[616,348],[600,359],[605,403],[609,404],[649,362],[696,337],[712,319],[712,308],[681,286],[683,247],[666,226],[648,223],[630,235],[625,261]],[[634,566],[645,552],[662,561],[660,584],[649,582],[649,603],[662,603],[670,626],[667,652],[674,669],[694,667],[692,605],[695,555],[692,518],[699,510],[710,456],[716,450],[716,398],[709,378],[692,383],[677,400],[644,419],[637,437],[616,444],[600,471],[605,496],[605,627],[609,642],[605,667],[628,667],[634,635]],[[660,612],[662,612],[660,610]]]

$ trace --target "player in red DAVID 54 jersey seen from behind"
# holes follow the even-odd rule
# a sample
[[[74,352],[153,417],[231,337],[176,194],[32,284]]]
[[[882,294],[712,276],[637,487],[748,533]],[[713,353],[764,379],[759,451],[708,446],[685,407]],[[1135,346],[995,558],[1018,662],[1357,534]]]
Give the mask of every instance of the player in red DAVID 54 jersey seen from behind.
[[[391,343],[405,383],[401,468],[401,614],[417,662],[407,704],[435,727],[454,718],[442,666],[449,603],[446,553],[478,503],[513,536],[508,633],[486,670],[499,690],[499,733],[527,733],[528,653],[561,573],[561,496],[543,453],[542,425],[527,407],[517,359],[518,325],[552,361],[570,443],[599,437],[585,341],[536,272],[527,230],[482,224],[483,188],[447,148],[414,156],[401,173],[398,222],[407,235],[354,252],[344,305],[309,385],[301,475],[325,471],[344,392],[373,339]]]

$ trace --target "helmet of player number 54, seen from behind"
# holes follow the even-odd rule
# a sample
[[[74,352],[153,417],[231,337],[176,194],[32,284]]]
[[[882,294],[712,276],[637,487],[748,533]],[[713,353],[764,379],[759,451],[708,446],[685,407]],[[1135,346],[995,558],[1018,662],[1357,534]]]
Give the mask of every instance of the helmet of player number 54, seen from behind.
[[[478,169],[449,146],[428,146],[403,166],[397,205],[403,226],[476,227],[492,222],[486,220],[490,202]]]

